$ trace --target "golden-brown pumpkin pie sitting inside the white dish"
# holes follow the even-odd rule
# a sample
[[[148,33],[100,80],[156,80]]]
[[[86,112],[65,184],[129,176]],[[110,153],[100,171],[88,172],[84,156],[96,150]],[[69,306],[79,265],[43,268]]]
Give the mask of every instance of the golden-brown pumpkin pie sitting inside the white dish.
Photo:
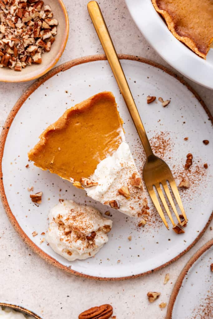
[[[212,0],[152,0],[171,33],[206,59],[213,41]]]

